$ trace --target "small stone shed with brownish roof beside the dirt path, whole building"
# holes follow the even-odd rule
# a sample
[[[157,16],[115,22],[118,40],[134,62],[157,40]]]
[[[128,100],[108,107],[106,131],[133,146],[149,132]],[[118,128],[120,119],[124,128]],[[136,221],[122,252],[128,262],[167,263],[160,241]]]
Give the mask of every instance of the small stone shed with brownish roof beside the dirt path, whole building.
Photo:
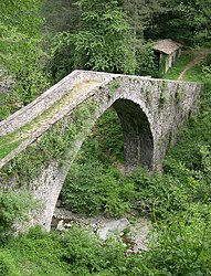
[[[176,60],[181,55],[182,45],[171,39],[166,39],[154,44],[154,51],[158,61],[159,72],[161,74],[175,64]]]

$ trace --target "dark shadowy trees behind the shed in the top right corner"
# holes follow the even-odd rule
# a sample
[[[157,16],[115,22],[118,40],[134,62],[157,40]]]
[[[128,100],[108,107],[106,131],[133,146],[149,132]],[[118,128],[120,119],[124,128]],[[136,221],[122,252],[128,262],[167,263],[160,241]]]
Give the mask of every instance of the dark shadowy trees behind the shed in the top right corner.
[[[192,46],[208,45],[211,40],[211,0],[163,1],[166,12],[155,14],[151,39],[171,38]],[[158,24],[157,24],[158,22]]]

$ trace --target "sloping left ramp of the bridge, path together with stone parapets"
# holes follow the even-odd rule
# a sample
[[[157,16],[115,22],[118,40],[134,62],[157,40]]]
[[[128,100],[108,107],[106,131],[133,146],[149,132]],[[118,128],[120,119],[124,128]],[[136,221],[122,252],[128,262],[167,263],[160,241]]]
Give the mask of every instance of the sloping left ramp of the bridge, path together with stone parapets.
[[[21,144],[0,160],[0,169],[15,155],[33,144],[65,114],[87,99],[94,88],[118,75],[74,71],[28,106],[0,121],[0,139],[14,134],[12,141]],[[44,114],[45,116],[42,116]],[[35,120],[36,118],[36,120]],[[27,128],[24,126],[27,125]],[[20,129],[20,131],[17,131]]]

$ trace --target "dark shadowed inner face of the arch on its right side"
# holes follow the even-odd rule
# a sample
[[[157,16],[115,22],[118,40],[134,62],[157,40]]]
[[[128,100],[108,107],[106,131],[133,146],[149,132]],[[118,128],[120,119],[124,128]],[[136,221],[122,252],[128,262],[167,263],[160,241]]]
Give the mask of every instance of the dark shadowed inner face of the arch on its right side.
[[[117,99],[112,106],[123,128],[126,172],[139,164],[152,169],[154,138],[146,114],[129,99]]]

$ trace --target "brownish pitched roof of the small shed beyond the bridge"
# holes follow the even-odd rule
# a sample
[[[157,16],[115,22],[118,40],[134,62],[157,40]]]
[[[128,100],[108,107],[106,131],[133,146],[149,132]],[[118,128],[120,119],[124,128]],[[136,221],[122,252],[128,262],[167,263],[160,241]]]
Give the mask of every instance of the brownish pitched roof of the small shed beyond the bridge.
[[[176,41],[172,41],[171,39],[161,40],[158,43],[154,45],[154,50],[165,53],[165,54],[171,54],[176,52],[178,49],[180,49],[182,45]]]

